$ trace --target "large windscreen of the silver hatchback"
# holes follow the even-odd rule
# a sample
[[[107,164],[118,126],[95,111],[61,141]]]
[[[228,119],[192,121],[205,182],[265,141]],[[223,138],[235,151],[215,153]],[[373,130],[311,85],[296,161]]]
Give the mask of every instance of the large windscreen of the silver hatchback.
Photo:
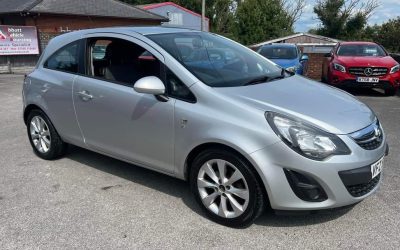
[[[215,34],[182,32],[147,37],[211,87],[242,86],[254,79],[276,78],[282,72],[256,52]]]

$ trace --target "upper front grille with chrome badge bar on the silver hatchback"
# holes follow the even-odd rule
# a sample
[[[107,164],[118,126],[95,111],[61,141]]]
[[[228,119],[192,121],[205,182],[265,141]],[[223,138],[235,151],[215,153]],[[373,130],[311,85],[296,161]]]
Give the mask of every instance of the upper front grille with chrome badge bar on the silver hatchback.
[[[376,120],[370,126],[350,134],[354,141],[363,149],[377,149],[383,141],[382,128]]]

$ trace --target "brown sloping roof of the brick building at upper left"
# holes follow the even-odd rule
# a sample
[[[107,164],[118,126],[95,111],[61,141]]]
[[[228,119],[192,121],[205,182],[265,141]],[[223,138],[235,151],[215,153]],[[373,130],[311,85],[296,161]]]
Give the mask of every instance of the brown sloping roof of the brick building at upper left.
[[[45,13],[168,21],[117,0],[0,0],[0,14]]]

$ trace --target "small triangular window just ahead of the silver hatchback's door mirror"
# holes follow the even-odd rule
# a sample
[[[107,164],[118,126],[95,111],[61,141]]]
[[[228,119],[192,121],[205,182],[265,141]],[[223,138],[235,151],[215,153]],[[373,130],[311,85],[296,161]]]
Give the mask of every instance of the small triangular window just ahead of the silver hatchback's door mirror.
[[[196,97],[190,89],[168,68],[166,68],[166,81],[168,96],[191,103],[196,102]]]

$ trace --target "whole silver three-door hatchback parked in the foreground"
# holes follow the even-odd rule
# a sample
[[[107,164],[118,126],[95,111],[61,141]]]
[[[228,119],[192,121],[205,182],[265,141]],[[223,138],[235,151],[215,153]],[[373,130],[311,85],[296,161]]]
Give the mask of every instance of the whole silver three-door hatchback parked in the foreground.
[[[60,35],[26,76],[23,102],[39,157],[73,144],[187,180],[205,213],[232,227],[265,207],[355,204],[379,187],[388,152],[353,96],[188,29]]]

